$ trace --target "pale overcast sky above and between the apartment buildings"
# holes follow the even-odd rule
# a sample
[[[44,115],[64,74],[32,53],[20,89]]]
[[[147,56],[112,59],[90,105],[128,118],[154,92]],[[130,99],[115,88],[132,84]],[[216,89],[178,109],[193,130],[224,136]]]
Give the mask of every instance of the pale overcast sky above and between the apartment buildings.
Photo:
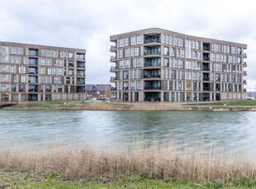
[[[0,41],[87,50],[87,83],[109,83],[110,35],[159,27],[248,44],[248,88],[256,91],[254,1],[0,0]]]

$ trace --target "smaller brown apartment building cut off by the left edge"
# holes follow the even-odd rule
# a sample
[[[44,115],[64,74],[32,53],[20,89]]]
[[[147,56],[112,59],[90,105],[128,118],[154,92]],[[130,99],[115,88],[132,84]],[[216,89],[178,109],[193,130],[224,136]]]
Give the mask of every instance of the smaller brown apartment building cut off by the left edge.
[[[84,49],[0,42],[0,101],[85,99]]]

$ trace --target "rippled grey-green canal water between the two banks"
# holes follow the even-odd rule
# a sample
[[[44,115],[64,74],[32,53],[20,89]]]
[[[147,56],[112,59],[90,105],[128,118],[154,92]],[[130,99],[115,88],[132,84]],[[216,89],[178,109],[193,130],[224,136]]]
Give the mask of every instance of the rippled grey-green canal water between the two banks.
[[[1,110],[0,143],[168,141],[254,151],[256,112]],[[255,150],[256,151],[256,150]]]

